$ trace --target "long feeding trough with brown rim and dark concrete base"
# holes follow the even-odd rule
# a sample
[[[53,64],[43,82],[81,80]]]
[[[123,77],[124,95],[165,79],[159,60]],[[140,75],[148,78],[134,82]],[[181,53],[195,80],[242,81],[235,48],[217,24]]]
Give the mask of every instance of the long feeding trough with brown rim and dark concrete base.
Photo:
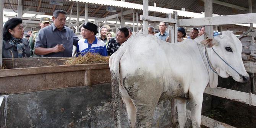
[[[3,59],[0,127],[114,127],[109,64],[62,65],[64,61],[62,58]],[[125,105],[122,109],[122,125],[126,127]],[[160,101],[153,127],[166,126],[170,120],[170,101]]]

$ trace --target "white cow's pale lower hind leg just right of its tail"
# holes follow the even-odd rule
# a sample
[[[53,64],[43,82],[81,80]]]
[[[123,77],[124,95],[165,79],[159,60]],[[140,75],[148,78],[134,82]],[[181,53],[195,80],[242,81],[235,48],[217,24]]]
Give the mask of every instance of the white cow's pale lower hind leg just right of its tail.
[[[123,102],[125,103],[127,115],[129,119],[129,125],[128,128],[134,128],[135,127],[135,121],[136,121],[136,108],[131,100],[130,97],[123,97]]]

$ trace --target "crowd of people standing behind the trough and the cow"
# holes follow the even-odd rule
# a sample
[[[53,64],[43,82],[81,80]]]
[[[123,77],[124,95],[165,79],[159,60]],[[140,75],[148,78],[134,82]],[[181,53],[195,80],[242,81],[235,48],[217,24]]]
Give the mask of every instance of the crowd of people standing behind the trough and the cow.
[[[24,28],[21,18],[11,18],[3,27],[3,58],[22,57],[72,57],[73,46],[76,47],[75,56],[85,55],[87,52],[98,53],[102,56],[112,55],[131,35],[130,27],[118,29],[116,34],[110,31],[108,25],[104,25],[98,32],[98,27],[93,23],[86,23],[81,27],[79,39],[76,34],[65,26],[67,13],[63,10],[55,10],[52,20],[40,18],[39,31],[28,31],[24,38]],[[169,42],[169,32],[166,31],[167,23],[159,23],[159,32],[153,27],[148,27],[148,34]],[[96,34],[100,33],[97,37]],[[200,29],[193,28],[187,38],[195,39],[204,34],[204,26]],[[217,35],[216,33],[215,35]],[[178,42],[186,37],[186,30],[178,28]]]

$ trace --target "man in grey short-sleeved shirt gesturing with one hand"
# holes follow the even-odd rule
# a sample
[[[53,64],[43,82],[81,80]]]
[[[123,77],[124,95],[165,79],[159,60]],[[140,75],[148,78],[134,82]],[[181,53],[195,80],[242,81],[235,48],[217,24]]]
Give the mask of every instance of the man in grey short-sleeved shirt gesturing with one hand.
[[[53,24],[40,30],[36,39],[35,53],[42,57],[72,57],[73,45],[79,38],[66,23],[66,11],[53,12]]]

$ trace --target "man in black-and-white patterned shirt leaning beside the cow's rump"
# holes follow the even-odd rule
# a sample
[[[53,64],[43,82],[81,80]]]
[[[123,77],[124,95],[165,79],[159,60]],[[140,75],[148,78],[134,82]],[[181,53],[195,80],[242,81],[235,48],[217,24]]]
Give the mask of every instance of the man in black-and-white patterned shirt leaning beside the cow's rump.
[[[129,30],[127,28],[120,28],[117,31],[117,37],[113,37],[109,39],[109,43],[107,46],[107,52],[109,55],[112,55],[117,49],[122,45],[129,36]]]

